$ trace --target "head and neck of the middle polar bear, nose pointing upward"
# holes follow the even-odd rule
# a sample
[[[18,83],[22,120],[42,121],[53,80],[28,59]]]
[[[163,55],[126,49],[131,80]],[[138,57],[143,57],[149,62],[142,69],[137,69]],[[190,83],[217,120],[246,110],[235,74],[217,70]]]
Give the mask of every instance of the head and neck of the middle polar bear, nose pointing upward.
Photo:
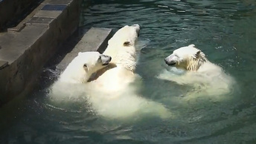
[[[138,40],[140,26],[133,24],[121,27],[111,39],[103,54],[112,57],[112,64],[135,70],[135,43]]]

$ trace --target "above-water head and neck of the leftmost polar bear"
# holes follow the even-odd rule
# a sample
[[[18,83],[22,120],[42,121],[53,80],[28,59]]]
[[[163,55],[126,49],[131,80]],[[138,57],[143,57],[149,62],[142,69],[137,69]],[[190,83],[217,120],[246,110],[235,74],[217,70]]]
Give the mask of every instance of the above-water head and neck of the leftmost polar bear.
[[[83,83],[87,82],[92,73],[109,65],[111,56],[99,52],[80,52],[68,64],[60,75],[59,82]]]

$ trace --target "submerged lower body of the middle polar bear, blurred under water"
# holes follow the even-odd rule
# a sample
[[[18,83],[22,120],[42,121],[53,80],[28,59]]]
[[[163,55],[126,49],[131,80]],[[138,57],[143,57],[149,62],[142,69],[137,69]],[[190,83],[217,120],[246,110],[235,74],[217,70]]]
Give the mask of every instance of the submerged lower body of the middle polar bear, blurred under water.
[[[89,94],[89,102],[97,114],[108,119],[134,120],[144,116],[167,119],[172,116],[161,103],[138,96],[134,87],[115,93],[95,90]]]

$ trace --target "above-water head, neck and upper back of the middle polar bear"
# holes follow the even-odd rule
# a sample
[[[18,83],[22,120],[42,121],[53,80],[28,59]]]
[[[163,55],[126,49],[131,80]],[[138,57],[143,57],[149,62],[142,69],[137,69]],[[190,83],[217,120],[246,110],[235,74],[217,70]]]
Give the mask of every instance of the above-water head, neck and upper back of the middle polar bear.
[[[133,24],[121,27],[111,39],[103,54],[111,56],[110,64],[100,71],[97,71],[95,83],[106,91],[121,91],[134,82],[136,66],[136,48],[140,26]],[[92,81],[93,82],[93,81]]]

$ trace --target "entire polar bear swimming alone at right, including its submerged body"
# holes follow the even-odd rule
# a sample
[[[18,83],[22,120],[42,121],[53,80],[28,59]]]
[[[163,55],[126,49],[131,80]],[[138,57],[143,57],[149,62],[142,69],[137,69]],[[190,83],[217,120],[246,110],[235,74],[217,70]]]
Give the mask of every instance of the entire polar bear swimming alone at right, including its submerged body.
[[[158,76],[159,79],[170,80],[179,85],[192,85],[194,89],[189,96],[228,94],[234,84],[234,79],[224,73],[223,68],[208,61],[205,53],[195,48],[195,45],[174,50],[164,62],[171,67],[184,70],[185,73],[164,71]]]

